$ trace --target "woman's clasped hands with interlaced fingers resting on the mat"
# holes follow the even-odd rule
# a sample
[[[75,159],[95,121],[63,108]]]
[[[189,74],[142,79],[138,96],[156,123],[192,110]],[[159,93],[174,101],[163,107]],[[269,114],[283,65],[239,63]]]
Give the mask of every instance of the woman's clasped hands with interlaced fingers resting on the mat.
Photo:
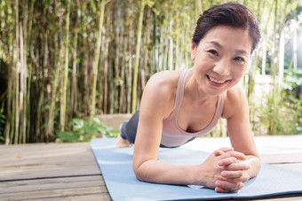
[[[242,182],[248,181],[247,170],[250,165],[246,156],[233,148],[221,148],[214,151],[203,165],[206,173],[206,186],[217,192],[227,193],[242,189]]]

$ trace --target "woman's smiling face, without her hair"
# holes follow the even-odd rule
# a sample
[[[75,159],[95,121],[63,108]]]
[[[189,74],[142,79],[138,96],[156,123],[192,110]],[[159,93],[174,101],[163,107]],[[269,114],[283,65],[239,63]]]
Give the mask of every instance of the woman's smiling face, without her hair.
[[[193,76],[199,89],[218,96],[237,84],[249,65],[251,46],[248,30],[227,26],[211,28],[191,51]]]

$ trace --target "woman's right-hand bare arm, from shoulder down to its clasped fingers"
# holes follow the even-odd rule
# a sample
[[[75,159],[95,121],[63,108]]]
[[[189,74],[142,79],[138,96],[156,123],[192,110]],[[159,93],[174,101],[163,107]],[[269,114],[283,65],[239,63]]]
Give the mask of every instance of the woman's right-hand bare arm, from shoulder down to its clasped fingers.
[[[258,174],[261,161],[250,129],[249,106],[240,86],[235,86],[227,92],[224,116],[227,118],[227,131],[234,151],[243,153],[247,160],[239,162],[237,158],[225,158],[221,166],[223,176],[227,182],[217,185],[220,192],[227,191],[229,182],[244,182]],[[248,170],[242,170],[242,163],[250,166]]]

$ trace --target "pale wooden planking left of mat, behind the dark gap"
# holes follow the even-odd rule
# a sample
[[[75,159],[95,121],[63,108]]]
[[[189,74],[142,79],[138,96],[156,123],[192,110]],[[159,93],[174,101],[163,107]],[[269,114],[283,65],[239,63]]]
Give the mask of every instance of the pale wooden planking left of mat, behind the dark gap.
[[[0,146],[0,182],[100,174],[90,143]]]

